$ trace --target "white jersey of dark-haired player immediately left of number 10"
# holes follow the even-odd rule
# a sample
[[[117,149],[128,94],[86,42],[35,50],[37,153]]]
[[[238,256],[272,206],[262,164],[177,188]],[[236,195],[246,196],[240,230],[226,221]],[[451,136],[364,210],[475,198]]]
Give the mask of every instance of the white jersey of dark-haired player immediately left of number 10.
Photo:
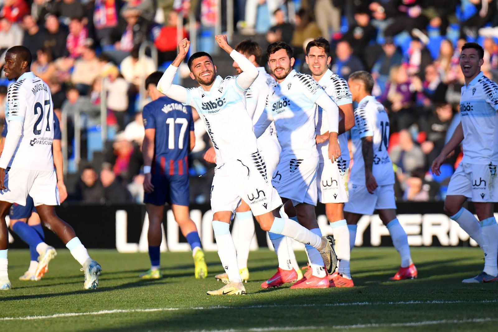
[[[344,78],[337,75],[330,69],[327,69],[322,78],[318,81],[325,92],[330,96],[330,98],[337,104],[337,106],[352,104],[353,98],[351,92],[349,91],[348,83]],[[329,131],[329,125],[327,122],[327,113],[323,112],[321,107],[317,108],[316,117],[316,134],[322,135]],[[341,157],[343,160],[348,161],[349,157],[348,149],[348,137],[346,133],[339,135],[337,138],[339,141],[339,146],[341,147]],[[320,157],[320,163],[324,160],[329,159],[329,141],[325,141],[318,145],[318,152]]]

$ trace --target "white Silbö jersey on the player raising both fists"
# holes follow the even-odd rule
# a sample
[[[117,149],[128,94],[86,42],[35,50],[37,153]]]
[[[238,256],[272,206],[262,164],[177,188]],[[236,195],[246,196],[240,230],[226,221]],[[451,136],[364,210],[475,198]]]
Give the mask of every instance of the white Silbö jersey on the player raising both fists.
[[[246,110],[246,90],[236,78],[217,76],[210,91],[186,89],[185,104],[194,107],[204,120],[217,160],[237,160],[257,152],[252,119]]]

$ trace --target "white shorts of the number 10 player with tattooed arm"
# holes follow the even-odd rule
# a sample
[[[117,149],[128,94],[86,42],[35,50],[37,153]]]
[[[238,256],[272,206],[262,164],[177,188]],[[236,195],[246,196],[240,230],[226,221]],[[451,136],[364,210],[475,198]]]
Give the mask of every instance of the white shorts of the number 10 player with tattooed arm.
[[[366,185],[348,185],[349,201],[344,211],[358,214],[373,214],[374,210],[395,209],[394,184],[379,185],[371,194]]]

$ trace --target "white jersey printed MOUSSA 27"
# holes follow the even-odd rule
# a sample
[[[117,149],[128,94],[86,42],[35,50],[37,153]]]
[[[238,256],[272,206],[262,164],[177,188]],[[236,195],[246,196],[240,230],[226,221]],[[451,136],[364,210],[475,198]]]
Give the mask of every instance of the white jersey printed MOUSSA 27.
[[[9,167],[54,170],[53,117],[50,88],[32,72],[22,74],[15,83],[8,87],[7,125],[10,121],[23,122],[22,135],[8,164]]]

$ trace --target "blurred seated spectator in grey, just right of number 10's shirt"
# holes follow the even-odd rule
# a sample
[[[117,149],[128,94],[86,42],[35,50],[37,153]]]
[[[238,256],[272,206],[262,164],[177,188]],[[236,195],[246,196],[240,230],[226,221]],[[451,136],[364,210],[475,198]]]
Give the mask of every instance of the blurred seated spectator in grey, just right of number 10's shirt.
[[[405,129],[399,131],[399,144],[390,149],[389,157],[396,165],[396,177],[402,185],[413,170],[424,167],[424,154]]]

